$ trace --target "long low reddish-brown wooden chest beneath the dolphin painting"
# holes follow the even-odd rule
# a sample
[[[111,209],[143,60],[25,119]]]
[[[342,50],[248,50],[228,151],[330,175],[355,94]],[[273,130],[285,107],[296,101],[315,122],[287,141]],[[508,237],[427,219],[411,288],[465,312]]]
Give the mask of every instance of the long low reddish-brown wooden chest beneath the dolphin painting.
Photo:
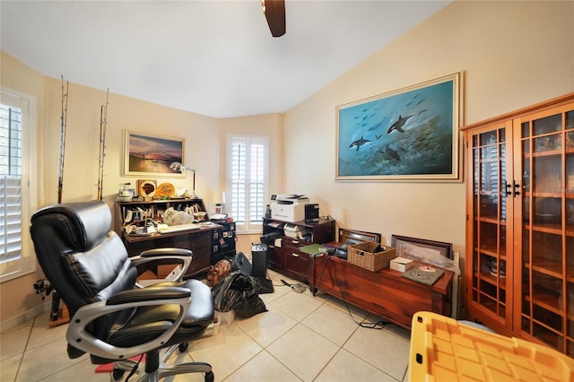
[[[414,313],[427,310],[450,316],[453,273],[433,285],[413,282],[390,268],[371,272],[335,256],[309,258],[309,286],[346,300],[398,326],[410,329]]]

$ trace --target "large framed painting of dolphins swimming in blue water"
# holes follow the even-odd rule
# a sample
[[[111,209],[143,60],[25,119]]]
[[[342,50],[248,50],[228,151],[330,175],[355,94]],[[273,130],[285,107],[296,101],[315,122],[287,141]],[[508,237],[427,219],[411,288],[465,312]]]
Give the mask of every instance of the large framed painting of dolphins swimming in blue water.
[[[460,181],[460,73],[336,107],[335,180]]]

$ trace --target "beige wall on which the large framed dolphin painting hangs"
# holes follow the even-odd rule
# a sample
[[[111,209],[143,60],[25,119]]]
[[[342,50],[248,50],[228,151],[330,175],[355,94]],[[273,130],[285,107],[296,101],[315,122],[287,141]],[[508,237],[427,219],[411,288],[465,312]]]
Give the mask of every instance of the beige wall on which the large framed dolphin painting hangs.
[[[574,91],[574,2],[455,2],[284,116],[284,189],[347,229],[465,248],[463,183],[335,182],[335,107],[465,76],[472,123]],[[313,169],[309,169],[309,161]]]

